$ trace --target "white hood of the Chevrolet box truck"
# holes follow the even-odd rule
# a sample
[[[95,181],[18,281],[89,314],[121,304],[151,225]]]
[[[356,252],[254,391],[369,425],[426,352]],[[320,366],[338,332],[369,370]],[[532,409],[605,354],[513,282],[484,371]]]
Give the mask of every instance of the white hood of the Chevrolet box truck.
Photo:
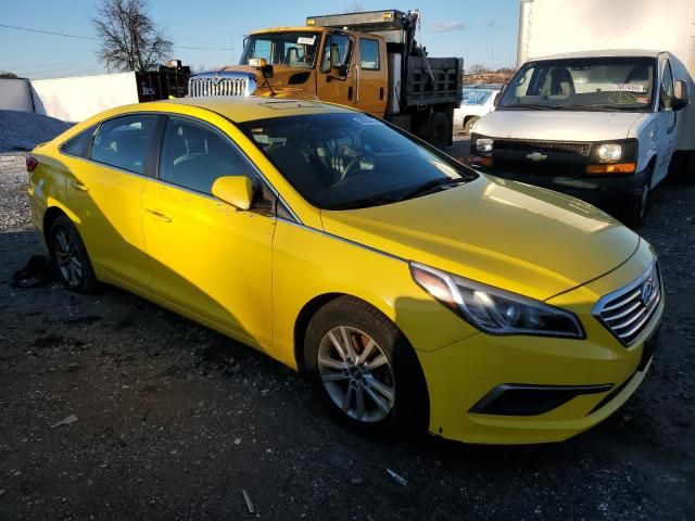
[[[476,123],[476,134],[493,138],[549,141],[626,139],[645,116],[634,112],[496,110]]]

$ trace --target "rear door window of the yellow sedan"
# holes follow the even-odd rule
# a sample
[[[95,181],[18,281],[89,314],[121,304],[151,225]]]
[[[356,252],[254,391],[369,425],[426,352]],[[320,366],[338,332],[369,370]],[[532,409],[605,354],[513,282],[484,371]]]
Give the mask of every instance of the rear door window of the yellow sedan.
[[[94,136],[90,158],[136,174],[144,173],[157,116],[138,114],[104,122]]]

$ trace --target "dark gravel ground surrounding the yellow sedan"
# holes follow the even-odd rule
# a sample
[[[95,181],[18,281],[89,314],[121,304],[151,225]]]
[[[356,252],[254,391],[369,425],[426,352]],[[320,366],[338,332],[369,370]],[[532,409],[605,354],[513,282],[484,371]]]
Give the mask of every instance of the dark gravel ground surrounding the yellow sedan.
[[[0,157],[0,519],[693,519],[695,187],[659,188],[642,230],[668,303],[633,398],[565,443],[485,447],[361,437],[285,367],[123,291],[11,289],[40,252],[23,170]]]

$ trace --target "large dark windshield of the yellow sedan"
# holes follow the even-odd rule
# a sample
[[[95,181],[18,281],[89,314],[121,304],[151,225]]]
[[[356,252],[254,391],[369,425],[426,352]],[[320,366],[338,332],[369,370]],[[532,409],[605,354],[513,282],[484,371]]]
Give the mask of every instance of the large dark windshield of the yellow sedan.
[[[241,128],[319,208],[388,204],[477,177],[435,149],[359,113],[285,116]]]

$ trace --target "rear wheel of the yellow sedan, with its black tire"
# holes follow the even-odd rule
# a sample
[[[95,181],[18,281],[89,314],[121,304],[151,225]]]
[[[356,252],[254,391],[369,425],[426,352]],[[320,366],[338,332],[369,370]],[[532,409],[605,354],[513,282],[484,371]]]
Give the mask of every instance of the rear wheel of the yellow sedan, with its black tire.
[[[77,293],[92,294],[99,281],[77,228],[66,216],[53,220],[48,236],[51,266],[63,285]]]

